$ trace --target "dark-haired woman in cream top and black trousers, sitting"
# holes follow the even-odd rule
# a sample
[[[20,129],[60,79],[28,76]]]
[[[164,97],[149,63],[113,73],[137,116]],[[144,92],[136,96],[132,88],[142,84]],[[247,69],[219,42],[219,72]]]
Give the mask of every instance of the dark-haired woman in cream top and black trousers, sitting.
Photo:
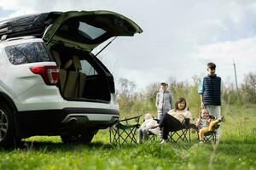
[[[160,120],[160,123],[154,126],[162,128],[162,140],[160,144],[166,144],[169,132],[189,127],[189,120],[192,120],[192,114],[188,111],[186,99],[177,99],[175,108],[168,111],[168,113],[166,113]]]

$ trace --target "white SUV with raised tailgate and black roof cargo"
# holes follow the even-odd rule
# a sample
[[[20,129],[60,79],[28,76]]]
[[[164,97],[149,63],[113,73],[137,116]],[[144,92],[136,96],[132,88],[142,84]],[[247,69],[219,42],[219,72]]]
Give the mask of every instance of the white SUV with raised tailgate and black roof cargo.
[[[119,119],[113,76],[91,53],[142,29],[109,11],[32,14],[0,22],[0,145],[33,135],[89,143]]]

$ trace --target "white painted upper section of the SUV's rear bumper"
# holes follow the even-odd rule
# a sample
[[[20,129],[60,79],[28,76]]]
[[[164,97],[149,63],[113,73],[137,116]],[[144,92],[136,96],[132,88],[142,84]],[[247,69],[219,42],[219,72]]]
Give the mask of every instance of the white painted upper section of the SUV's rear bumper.
[[[42,80],[40,81],[42,82]],[[13,98],[11,97],[11,99]],[[63,110],[63,108],[119,109],[115,94],[111,94],[109,102],[93,99],[66,100],[62,98],[59,88],[46,86],[43,83],[32,86],[13,100],[17,110],[22,112]]]

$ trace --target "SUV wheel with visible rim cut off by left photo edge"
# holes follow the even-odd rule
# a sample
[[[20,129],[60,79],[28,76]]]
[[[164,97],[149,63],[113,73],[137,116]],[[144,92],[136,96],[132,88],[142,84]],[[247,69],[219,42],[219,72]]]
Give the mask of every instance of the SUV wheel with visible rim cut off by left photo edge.
[[[0,103],[0,145],[12,146],[15,144],[15,122],[9,107]]]

